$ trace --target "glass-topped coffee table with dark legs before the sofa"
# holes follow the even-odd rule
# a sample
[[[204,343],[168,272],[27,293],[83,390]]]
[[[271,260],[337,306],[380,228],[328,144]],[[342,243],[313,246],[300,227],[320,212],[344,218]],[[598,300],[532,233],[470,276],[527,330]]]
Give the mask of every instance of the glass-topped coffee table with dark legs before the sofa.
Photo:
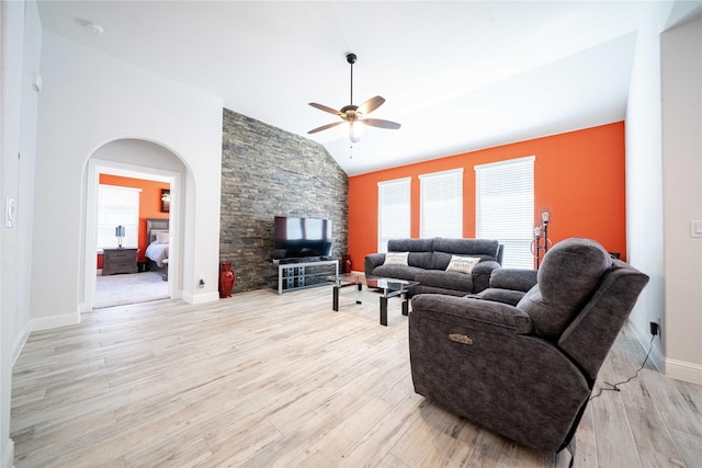
[[[409,303],[407,299],[408,289],[417,286],[419,283],[407,279],[386,278],[381,276],[365,276],[361,273],[346,273],[338,277],[331,278],[335,282],[332,309],[339,311],[339,289],[349,286],[355,286],[358,298],[355,304],[361,304],[361,292],[363,286],[371,289],[377,289],[381,299],[381,324],[387,327],[387,300],[393,297],[399,297],[403,301],[403,316],[409,313]]]

